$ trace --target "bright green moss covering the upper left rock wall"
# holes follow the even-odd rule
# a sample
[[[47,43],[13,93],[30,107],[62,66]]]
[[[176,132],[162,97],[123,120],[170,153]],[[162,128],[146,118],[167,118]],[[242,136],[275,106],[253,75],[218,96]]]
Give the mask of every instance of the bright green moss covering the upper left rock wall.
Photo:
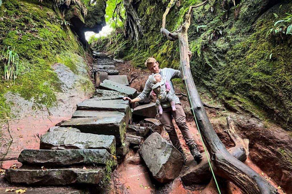
[[[0,50],[14,48],[23,61],[20,74],[13,81],[4,80],[4,64],[0,62],[0,120],[13,117],[4,95],[19,93],[34,106],[54,105],[56,92],[62,92],[62,82],[51,68],[63,63],[78,74],[78,56],[84,57],[82,47],[53,1],[3,0],[0,7]],[[75,63],[76,62],[76,63]],[[9,99],[8,99],[9,101]]]

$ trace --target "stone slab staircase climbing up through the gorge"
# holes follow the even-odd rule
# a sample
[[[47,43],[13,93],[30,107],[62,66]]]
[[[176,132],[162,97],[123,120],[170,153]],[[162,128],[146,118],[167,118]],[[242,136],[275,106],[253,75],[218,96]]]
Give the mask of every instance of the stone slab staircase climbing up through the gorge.
[[[120,162],[124,158],[129,145],[139,146],[149,131],[159,125],[147,120],[144,127],[130,125],[135,110],[122,98],[135,98],[137,90],[128,87],[127,76],[118,75],[114,60],[102,56],[95,59],[92,67],[99,89],[91,99],[77,104],[71,119],[56,124],[41,136],[40,149],[22,150],[18,157],[22,167],[6,170],[6,180],[16,184],[68,185],[94,188],[91,193],[104,192],[109,188],[117,160]],[[146,116],[154,117],[153,107],[154,103],[147,104]],[[137,113],[141,117],[143,108]],[[129,134],[126,135],[127,128]]]

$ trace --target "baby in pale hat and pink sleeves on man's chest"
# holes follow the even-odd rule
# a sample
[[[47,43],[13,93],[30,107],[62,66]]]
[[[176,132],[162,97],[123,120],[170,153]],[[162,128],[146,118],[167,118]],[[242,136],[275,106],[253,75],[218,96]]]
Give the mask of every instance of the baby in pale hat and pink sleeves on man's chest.
[[[151,94],[155,93],[157,95],[156,106],[158,107],[159,114],[162,115],[162,107],[160,103],[166,101],[170,102],[172,110],[175,111],[175,102],[173,101],[172,95],[169,94],[169,83],[167,81],[164,83],[159,73],[156,73],[152,76],[152,82],[154,83],[154,85],[152,86]]]

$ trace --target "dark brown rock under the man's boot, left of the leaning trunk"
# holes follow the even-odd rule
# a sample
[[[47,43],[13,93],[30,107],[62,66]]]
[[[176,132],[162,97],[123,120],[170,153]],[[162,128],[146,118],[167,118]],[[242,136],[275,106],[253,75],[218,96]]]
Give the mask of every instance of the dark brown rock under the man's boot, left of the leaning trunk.
[[[181,177],[185,185],[193,183],[208,183],[212,174],[209,171],[209,164],[205,153],[202,153],[202,161],[198,164],[193,159],[189,159],[186,163],[188,167],[185,174]]]

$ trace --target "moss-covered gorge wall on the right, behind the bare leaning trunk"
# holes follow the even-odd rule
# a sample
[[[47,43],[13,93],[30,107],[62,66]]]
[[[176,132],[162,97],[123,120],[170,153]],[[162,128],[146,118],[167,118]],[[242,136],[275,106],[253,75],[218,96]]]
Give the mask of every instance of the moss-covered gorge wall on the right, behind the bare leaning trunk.
[[[232,2],[209,1],[194,10],[188,31],[194,80],[230,109],[248,111],[290,130],[292,36],[266,34],[275,21],[291,14],[291,1],[235,1],[235,8]],[[117,29],[112,36],[93,42],[95,50],[130,59],[137,67],[143,68],[145,59],[154,56],[161,67],[178,68],[178,42],[166,41],[160,34],[167,3],[142,0],[136,7],[145,29],[140,48],[125,38],[123,29]],[[177,29],[188,6],[198,3],[181,1],[180,7],[173,6],[166,29]]]

